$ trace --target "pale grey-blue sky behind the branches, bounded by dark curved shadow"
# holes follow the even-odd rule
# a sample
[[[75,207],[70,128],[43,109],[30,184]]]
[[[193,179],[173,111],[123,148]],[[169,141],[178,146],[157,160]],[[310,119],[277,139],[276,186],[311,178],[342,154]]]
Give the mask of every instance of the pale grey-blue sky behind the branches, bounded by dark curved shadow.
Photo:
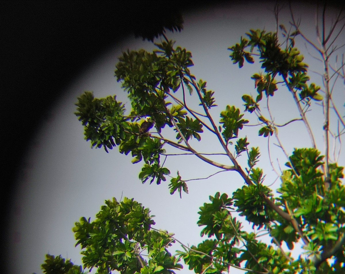
[[[226,105],[235,105],[243,111],[241,96],[256,94],[254,81],[250,77],[261,71],[258,62],[254,65],[247,63],[239,69],[237,64],[232,64],[227,48],[239,42],[249,29],[275,31],[274,2],[257,3],[253,1],[242,6],[223,4],[207,10],[196,9],[195,12],[184,14],[184,30],[181,33],[167,34],[168,38],[176,40],[176,45],[191,51],[195,64],[191,72],[197,79],[207,81],[208,89],[215,91],[218,107],[213,109],[212,114],[216,121]],[[315,39],[314,7],[293,8],[296,17],[302,15],[302,30]],[[286,27],[290,19],[287,11],[288,7],[285,6],[279,18],[279,23],[284,23]],[[338,44],[344,43],[342,36]],[[308,55],[303,43],[296,45],[303,51],[305,62],[311,68],[309,73],[312,81],[321,85],[321,77],[311,70],[322,71],[322,67]],[[74,104],[84,91],[93,91],[95,97],[117,95],[117,100],[124,102],[129,110],[126,93],[114,77],[117,58],[128,48],[152,50],[154,47],[150,42],[132,37],[113,45],[84,70],[76,73],[75,80],[66,87],[64,96],[42,121],[32,147],[23,159],[19,175],[21,187],[12,208],[15,217],[11,229],[13,245],[10,255],[16,262],[12,273],[41,273],[40,264],[46,253],[61,254],[62,257],[71,258],[75,264],[82,264],[80,246],[74,247],[76,241],[72,227],[82,216],[93,219],[104,200],[112,197],[118,200],[121,197],[134,198],[149,207],[151,214],[156,216],[155,228],[175,233],[175,237],[187,245],[198,244],[201,242],[201,228],[196,225],[199,207],[217,191],[231,196],[233,191],[242,187],[243,180],[236,172],[221,172],[207,180],[188,182],[189,194],[183,194],[180,199],[178,194],[169,194],[168,181],[159,186],[154,183],[141,184],[138,174],[142,163],[131,164],[131,157],[120,154],[117,148],[109,150],[109,153],[103,149],[90,149],[90,142],[84,140],[83,127],[73,114],[76,111]],[[310,47],[308,49],[312,51]],[[344,54],[344,50],[343,47],[338,54]],[[344,98],[344,85],[338,84],[334,91],[338,107],[342,107]],[[195,103],[196,98],[190,98],[190,102]],[[284,87],[276,92],[270,106],[277,123],[298,117],[296,107]],[[312,112],[308,118],[316,132],[318,148],[322,150],[322,108],[313,104],[312,109],[315,113]],[[252,121],[250,124],[256,123],[253,116],[246,117]],[[260,147],[262,158],[259,167],[264,168],[267,174],[265,184],[271,185],[277,176],[267,164],[267,139],[258,137],[257,131],[257,128],[246,127],[240,135],[247,135],[251,146]],[[300,122],[279,129],[279,134],[289,153],[295,147],[310,146],[308,135]],[[222,152],[211,135],[201,137],[200,144],[191,143],[200,152]],[[284,168],[286,159],[281,151],[273,144],[270,148],[272,158],[278,158],[280,167]],[[229,164],[226,158],[213,159]],[[344,153],[340,159],[339,164],[344,165]],[[186,180],[205,178],[218,171],[193,156],[168,157],[165,166],[171,171],[171,176],[175,176],[178,170]],[[276,161],[275,167],[278,169]],[[277,180],[272,188],[277,188],[279,183]],[[171,252],[175,249],[172,248]],[[180,273],[187,272],[186,268]],[[242,272],[232,269],[231,273]]]

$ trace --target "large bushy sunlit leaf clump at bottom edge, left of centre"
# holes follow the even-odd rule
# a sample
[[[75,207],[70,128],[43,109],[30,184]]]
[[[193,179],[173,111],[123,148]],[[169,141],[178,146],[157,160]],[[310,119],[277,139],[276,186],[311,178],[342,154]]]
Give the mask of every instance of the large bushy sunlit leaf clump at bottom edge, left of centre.
[[[96,220],[85,217],[73,232],[81,245],[84,268],[97,267],[98,273],[174,273],[181,268],[167,251],[174,242],[167,233],[151,230],[155,222],[149,209],[133,199],[106,201]],[[144,259],[144,255],[147,259]]]

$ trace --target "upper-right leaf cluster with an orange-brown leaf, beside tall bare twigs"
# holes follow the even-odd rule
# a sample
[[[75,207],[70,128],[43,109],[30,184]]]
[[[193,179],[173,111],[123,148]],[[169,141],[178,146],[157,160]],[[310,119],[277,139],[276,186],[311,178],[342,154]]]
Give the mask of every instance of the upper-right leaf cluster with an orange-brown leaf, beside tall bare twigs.
[[[318,93],[320,87],[315,84],[306,84],[309,80],[307,76],[307,64],[303,63],[304,57],[300,51],[295,48],[295,37],[299,35],[298,31],[288,33],[283,25],[280,25],[283,36],[286,37],[286,48],[279,44],[277,34],[266,32],[265,30],[250,30],[246,35],[248,39],[242,38],[239,44],[228,48],[231,51],[230,57],[233,63],[243,67],[244,60],[248,63],[254,63],[253,56],[258,55],[261,68],[265,74],[254,74],[251,78],[255,82],[255,88],[258,95],[254,99],[251,95],[243,95],[242,100],[245,102],[245,111],[253,113],[260,111],[259,102],[263,94],[273,96],[278,90],[275,77],[282,76],[283,82],[289,87],[289,91],[298,93],[302,102],[308,103],[311,99],[322,101],[323,96]],[[257,53],[254,53],[256,49]],[[266,125],[259,131],[259,135],[265,137],[273,134],[273,127]]]

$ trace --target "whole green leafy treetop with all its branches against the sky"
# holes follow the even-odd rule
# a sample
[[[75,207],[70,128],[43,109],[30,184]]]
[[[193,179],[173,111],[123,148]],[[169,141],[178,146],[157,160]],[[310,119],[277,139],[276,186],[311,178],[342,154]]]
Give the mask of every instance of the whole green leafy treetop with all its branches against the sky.
[[[278,6],[275,11],[278,22]],[[334,26],[341,20],[344,22],[343,13]],[[239,44],[229,47],[233,63],[240,68],[258,59],[263,69],[252,76],[257,95],[244,94],[242,99],[244,111],[258,121],[258,135],[273,136],[286,156],[287,168],[278,172],[281,185],[277,195],[263,184],[264,171],[257,167],[259,148],[250,147],[247,136],[241,135],[249,121],[231,105],[221,110],[218,118],[211,116],[210,109],[217,106],[215,93],[207,90],[205,81],[191,74],[191,53],[175,47],[164,33],[161,35],[165,40],[156,43],[153,52],[128,50],[119,58],[115,76],[128,93],[129,113],[116,96],[94,98],[91,92],[85,92],[78,98],[76,115],[91,147],[103,147],[108,152],[118,146],[120,153],[131,153],[133,163],[142,162],[139,179],[143,183],[149,180],[160,184],[167,180],[170,170],[164,167],[164,160],[169,146],[181,150],[182,154],[192,153],[220,170],[237,172],[243,179],[243,186],[232,196],[217,192],[209,197],[209,203],[200,207],[198,225],[202,227],[201,236],[207,239],[197,246],[187,246],[173,234],[152,227],[155,223],[149,210],[133,199],[106,201],[94,221],[83,217],[73,228],[76,245],[82,248],[84,269],[96,267],[97,273],[168,274],[180,269],[182,265],[178,262],[183,260],[195,273],[229,272],[231,267],[262,274],[345,273],[343,168],[332,161],[329,151],[332,136],[340,142],[345,131],[344,117],[333,104],[335,91],[331,90],[334,81],[344,80],[344,60],[338,70],[329,64],[337,48],[333,44],[342,30],[335,33],[331,29],[327,34],[322,28],[317,45],[300,31],[293,14],[291,24],[291,30],[286,31],[285,26],[278,28],[277,23],[282,41],[277,32],[250,30]],[[308,66],[295,48],[296,37],[304,39],[322,56],[323,89],[308,83]],[[299,113],[299,118],[283,125],[275,123],[269,110],[269,98],[278,89],[279,93],[290,94]],[[187,104],[188,95],[198,100],[199,109]],[[323,153],[317,150],[305,115],[313,102],[319,101],[324,106]],[[331,131],[331,111],[337,117],[334,121],[337,133]],[[149,124],[140,123],[144,119],[142,123]],[[302,121],[306,127],[311,147],[287,152],[277,128],[295,121]],[[176,134],[176,140],[168,137],[169,131]],[[201,141],[204,131],[215,136],[231,165],[213,161],[193,148],[193,142]],[[239,164],[240,155],[247,158],[246,165]],[[177,190],[180,197],[183,192],[188,193],[187,183],[178,171],[177,177],[171,177],[169,189],[171,194]],[[243,230],[239,219],[233,216],[234,211],[253,228],[264,230],[271,243],[261,241],[257,233]],[[182,251],[171,255],[168,248],[175,242],[181,245]],[[298,242],[303,243],[305,256],[294,258],[282,248],[282,243],[286,243],[293,249]],[[50,255],[42,269],[45,273],[81,273],[81,267]]]

